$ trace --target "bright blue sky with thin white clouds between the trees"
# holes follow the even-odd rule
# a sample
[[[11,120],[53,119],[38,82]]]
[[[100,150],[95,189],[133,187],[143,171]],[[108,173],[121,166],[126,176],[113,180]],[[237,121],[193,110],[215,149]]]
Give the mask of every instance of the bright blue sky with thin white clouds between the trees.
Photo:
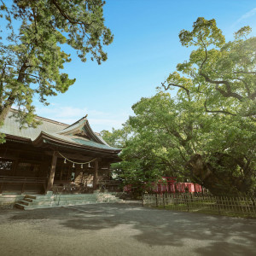
[[[106,47],[108,61],[79,61],[75,51],[65,72],[77,81],[65,93],[50,97],[50,105],[35,105],[40,116],[72,124],[88,113],[94,131],[120,128],[132,115],[131,106],[141,97],[153,96],[155,88],[177,63],[189,58],[178,33],[191,30],[198,17],[214,18],[227,40],[241,26],[256,34],[255,1],[107,0],[106,25],[114,35]]]

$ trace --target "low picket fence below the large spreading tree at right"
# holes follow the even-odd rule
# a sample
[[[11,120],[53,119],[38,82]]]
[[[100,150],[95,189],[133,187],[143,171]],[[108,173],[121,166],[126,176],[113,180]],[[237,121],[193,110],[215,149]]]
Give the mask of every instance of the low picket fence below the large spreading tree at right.
[[[256,200],[249,197],[169,193],[144,194],[143,206],[163,207],[183,212],[256,217]]]

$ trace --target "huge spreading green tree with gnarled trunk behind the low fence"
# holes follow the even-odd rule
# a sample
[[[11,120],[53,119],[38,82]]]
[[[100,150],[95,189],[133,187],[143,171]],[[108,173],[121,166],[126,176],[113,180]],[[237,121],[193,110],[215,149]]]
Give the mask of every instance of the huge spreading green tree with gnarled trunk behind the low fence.
[[[177,65],[155,96],[132,107],[133,134],[121,154],[128,183],[172,175],[214,195],[255,193],[256,38],[250,31],[245,26],[225,43],[215,20],[198,18],[191,32],[180,32],[181,44],[193,49],[189,61]]]

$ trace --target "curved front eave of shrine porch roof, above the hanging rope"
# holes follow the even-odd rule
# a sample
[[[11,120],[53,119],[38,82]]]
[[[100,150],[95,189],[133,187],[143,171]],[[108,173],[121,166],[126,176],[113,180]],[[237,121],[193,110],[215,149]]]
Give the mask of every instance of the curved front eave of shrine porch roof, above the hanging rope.
[[[33,145],[37,147],[44,147],[46,144],[55,144],[56,146],[73,148],[82,151],[88,151],[95,153],[103,153],[103,154],[119,154],[121,149],[111,149],[111,148],[96,148],[87,145],[80,145],[78,143],[70,143],[56,137],[50,136],[49,134],[42,131],[40,135],[33,141]]]

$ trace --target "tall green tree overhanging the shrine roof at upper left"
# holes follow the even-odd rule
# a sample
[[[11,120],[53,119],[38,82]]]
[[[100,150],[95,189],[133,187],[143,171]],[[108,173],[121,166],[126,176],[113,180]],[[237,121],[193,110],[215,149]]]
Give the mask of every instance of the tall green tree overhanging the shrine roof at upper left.
[[[32,98],[67,91],[75,79],[61,73],[71,61],[61,48],[77,50],[81,61],[90,54],[99,64],[107,60],[104,45],[113,35],[104,25],[102,0],[0,1],[0,125],[13,104],[20,125],[37,125]]]

